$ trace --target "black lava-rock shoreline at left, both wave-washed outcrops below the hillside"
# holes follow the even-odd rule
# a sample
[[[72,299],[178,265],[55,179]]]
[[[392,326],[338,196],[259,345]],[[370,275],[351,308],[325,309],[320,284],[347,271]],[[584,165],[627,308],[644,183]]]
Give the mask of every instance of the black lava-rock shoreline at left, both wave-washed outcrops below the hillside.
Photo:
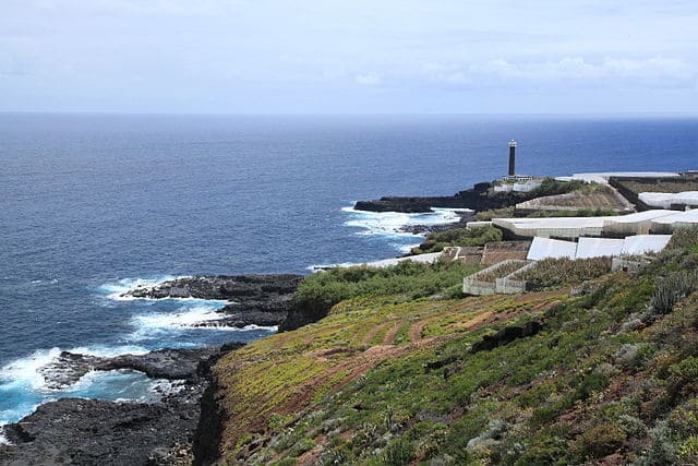
[[[133,289],[124,297],[226,300],[228,304],[218,311],[224,316],[213,322],[216,325],[292,330],[321,318],[293,308],[292,296],[301,279],[289,274],[179,278]],[[210,367],[241,346],[158,349],[112,358],[63,351],[39,370],[47,390],[70,386],[92,371],[137,371],[170,383],[156,403],[62,398],[40,405],[19,422],[0,428],[11,443],[0,445],[0,463],[205,464],[209,452],[217,451],[220,423]]]

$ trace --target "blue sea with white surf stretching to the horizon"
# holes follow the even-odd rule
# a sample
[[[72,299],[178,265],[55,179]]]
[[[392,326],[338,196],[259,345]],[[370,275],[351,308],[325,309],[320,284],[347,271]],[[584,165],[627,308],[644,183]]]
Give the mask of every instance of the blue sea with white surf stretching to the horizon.
[[[0,423],[60,396],[147,399],[156,382],[96,373],[53,392],[61,349],[116,355],[251,340],[197,328],[219,302],[122,300],[198,274],[306,273],[394,256],[433,215],[350,207],[453,194],[506,171],[698,168],[698,119],[461,116],[0,115]]]

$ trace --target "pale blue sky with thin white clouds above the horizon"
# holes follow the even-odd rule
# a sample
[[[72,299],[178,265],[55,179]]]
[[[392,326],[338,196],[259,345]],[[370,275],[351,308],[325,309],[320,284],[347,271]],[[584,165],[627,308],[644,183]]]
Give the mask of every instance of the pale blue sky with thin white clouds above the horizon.
[[[698,0],[1,0],[0,111],[695,115]]]

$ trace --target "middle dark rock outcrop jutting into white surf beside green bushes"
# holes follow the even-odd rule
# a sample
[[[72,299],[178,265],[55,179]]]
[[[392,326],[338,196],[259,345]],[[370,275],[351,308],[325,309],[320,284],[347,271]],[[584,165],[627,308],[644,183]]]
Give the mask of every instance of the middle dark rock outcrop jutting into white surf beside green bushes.
[[[197,298],[229,301],[218,312],[225,314],[201,326],[281,325],[293,306],[293,292],[301,275],[237,275],[186,277],[125,292],[133,298]]]

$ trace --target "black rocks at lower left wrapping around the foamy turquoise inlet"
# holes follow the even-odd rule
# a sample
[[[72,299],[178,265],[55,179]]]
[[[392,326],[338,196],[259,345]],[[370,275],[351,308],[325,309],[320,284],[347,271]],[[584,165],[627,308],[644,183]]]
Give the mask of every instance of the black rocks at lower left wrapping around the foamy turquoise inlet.
[[[0,446],[0,464],[192,464],[197,429],[207,429],[208,418],[200,418],[210,365],[240,346],[164,349],[116,358],[63,353],[45,373],[55,378],[55,385],[96,368],[141,370],[152,378],[181,383],[153,404],[63,398],[41,405],[20,422],[4,427],[13,444]]]

